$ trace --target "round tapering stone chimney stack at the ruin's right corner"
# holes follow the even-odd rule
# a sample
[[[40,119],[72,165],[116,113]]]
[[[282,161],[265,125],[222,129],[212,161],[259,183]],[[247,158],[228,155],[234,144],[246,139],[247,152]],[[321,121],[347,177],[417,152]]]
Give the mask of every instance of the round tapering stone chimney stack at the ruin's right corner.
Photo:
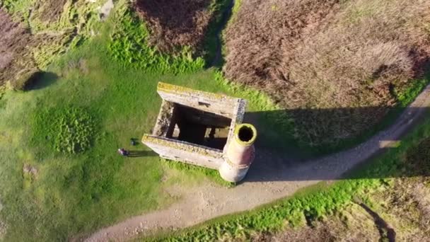
[[[219,167],[224,180],[236,183],[245,178],[255,158],[255,139],[257,129],[253,125],[236,125],[232,139],[224,147],[224,162]]]

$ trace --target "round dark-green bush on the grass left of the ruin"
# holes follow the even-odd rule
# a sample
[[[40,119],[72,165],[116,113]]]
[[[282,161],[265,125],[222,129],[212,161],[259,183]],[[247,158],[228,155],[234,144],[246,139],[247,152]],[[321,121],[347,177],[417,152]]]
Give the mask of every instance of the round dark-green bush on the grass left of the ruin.
[[[64,107],[42,110],[33,124],[33,143],[48,142],[55,151],[77,154],[91,147],[95,120],[83,108]],[[45,137],[45,141],[40,140]],[[43,143],[42,143],[43,144]]]

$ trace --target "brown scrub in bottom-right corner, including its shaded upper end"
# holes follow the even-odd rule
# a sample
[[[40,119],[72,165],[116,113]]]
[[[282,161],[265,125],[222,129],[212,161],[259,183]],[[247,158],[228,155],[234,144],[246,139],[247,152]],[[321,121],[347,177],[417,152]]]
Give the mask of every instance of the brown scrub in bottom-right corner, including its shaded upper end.
[[[401,162],[401,173],[368,190],[366,202],[354,197],[321,220],[305,224],[303,217],[301,227],[255,234],[251,241],[430,241],[430,138],[409,147]]]

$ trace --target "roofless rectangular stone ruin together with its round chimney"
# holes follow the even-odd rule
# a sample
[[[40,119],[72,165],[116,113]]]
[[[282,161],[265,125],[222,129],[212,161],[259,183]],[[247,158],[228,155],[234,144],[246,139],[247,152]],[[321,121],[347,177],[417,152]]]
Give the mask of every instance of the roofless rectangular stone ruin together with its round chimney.
[[[216,169],[242,180],[254,160],[257,130],[243,124],[246,101],[158,83],[163,98],[152,134],[142,142],[161,157]]]

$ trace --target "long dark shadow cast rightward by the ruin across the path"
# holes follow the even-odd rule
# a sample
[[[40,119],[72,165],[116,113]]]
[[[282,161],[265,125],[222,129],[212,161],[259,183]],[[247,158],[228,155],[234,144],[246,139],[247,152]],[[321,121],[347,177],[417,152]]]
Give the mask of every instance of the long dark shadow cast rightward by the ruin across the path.
[[[426,105],[422,106],[426,107]],[[337,143],[337,148],[327,145],[327,150],[324,150],[324,145],[313,148],[303,146],[294,138],[293,128],[302,130],[315,129],[316,125],[317,128],[322,129],[320,134],[328,136],[330,135],[330,130],[333,129],[329,127],[330,125],[334,125],[337,129],[348,129],[348,127],[342,127],[342,125],[348,124],[348,122],[344,121],[347,120],[347,114],[371,115],[372,113],[379,113],[382,109],[389,110],[386,115],[383,115],[383,118],[378,118],[377,115],[370,116],[369,118],[378,119],[376,120],[377,122],[373,122],[373,125],[368,125],[368,127],[364,126],[364,134],[359,137],[340,139]],[[294,113],[303,115],[302,119],[304,121],[294,125],[285,125],[286,122],[283,122],[283,120],[292,117]],[[344,120],[333,118],[333,115],[339,114],[345,115]],[[401,161],[397,161],[399,159],[378,161],[378,159],[374,158],[378,158],[378,155],[383,154],[385,151],[400,149],[400,140],[407,137],[407,134],[410,134],[414,127],[417,127],[426,117],[429,117],[428,114],[429,108],[387,107],[276,110],[246,113],[244,122],[250,122],[257,127],[258,138],[255,144],[255,161],[252,163],[243,183],[287,180],[337,180],[339,177],[361,179],[423,175],[420,168],[410,169],[406,173],[399,172],[400,166],[404,165],[400,164]],[[305,117],[308,117],[308,120]],[[332,121],[324,123],[325,120],[330,120],[330,117]],[[309,126],[310,122],[314,122],[314,126]],[[375,123],[377,125],[374,125]],[[333,134],[331,135],[333,136]],[[308,154],[299,153],[299,149],[304,151],[303,153],[308,152]],[[342,149],[342,151],[333,153],[335,149]],[[430,164],[428,165],[430,167]],[[361,166],[371,167],[362,168]],[[357,169],[353,169],[351,172],[352,168]]]

